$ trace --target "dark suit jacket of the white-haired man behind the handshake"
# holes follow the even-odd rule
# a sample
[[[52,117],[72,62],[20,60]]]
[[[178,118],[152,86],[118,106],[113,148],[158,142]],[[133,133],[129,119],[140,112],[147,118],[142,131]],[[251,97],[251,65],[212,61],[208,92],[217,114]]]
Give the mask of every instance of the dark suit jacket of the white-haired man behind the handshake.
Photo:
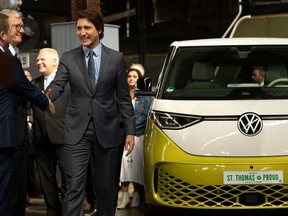
[[[32,83],[39,89],[44,90],[44,76],[34,79]],[[55,114],[46,115],[46,117],[41,109],[33,106],[33,132],[36,145],[43,142],[46,132],[53,144],[64,144],[65,113],[69,97],[70,86],[67,84],[64,93],[53,102]]]

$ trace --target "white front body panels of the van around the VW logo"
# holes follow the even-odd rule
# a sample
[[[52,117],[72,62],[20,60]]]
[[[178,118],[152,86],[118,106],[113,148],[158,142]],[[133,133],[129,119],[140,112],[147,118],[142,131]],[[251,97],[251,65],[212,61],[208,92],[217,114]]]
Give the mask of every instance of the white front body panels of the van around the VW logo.
[[[273,103],[273,109],[271,108]],[[211,107],[212,106],[212,107]],[[287,100],[244,101],[177,101],[157,100],[153,110],[161,112],[229,117],[254,112],[261,115],[286,115]],[[288,154],[288,120],[264,120],[263,129],[256,136],[243,135],[237,120],[202,121],[181,130],[163,132],[183,151],[201,156],[281,156]],[[209,133],[206,133],[209,131]],[[193,136],[191,136],[193,134]]]

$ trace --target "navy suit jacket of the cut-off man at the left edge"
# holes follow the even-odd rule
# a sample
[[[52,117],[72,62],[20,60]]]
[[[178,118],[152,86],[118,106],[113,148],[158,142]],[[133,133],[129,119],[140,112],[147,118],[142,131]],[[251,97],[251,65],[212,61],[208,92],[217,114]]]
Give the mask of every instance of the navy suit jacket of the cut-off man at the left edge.
[[[0,51],[2,52],[2,51]],[[45,110],[47,97],[26,78],[20,60],[14,57],[15,70],[12,85],[0,84],[0,148],[16,148],[17,97],[21,96]]]

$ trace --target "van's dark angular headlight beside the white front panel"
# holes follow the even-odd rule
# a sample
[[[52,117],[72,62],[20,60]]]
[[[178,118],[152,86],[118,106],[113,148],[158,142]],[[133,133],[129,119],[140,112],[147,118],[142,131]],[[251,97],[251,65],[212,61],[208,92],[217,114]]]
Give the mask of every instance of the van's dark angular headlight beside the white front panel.
[[[200,116],[151,111],[150,117],[161,129],[183,129],[202,121]]]

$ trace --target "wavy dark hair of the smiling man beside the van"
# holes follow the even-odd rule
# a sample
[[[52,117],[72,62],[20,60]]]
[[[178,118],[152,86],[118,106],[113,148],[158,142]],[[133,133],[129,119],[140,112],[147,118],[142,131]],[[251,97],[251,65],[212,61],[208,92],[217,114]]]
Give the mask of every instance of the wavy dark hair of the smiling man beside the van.
[[[77,13],[76,21],[81,18],[86,18],[93,23],[97,31],[101,31],[99,34],[100,40],[104,37],[104,20],[100,12],[88,9],[81,10]]]

